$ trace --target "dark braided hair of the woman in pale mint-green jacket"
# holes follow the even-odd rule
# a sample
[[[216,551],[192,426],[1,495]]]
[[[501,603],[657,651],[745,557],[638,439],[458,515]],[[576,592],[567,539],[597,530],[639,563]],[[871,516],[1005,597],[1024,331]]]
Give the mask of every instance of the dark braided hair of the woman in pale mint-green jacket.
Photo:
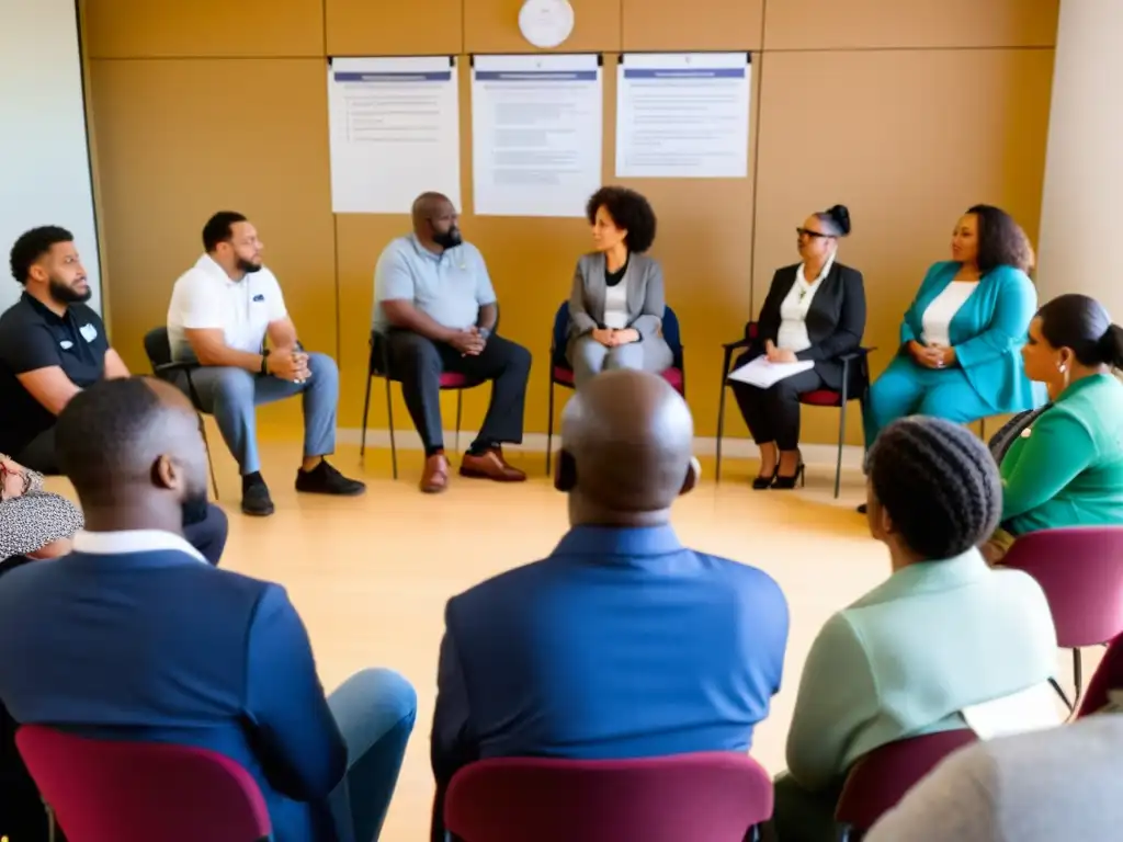
[[[959,556],[998,525],[998,466],[973,432],[950,421],[894,421],[870,448],[866,470],[905,544],[925,559]]]

